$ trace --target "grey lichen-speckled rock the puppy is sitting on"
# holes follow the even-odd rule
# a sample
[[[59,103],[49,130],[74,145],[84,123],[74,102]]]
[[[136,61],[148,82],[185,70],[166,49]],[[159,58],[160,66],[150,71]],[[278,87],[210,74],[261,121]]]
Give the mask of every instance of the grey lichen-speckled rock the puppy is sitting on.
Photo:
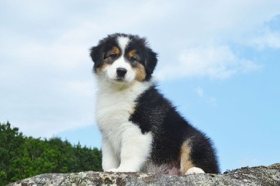
[[[280,185],[280,164],[244,167],[223,174],[166,176],[153,173],[46,173],[12,185]]]

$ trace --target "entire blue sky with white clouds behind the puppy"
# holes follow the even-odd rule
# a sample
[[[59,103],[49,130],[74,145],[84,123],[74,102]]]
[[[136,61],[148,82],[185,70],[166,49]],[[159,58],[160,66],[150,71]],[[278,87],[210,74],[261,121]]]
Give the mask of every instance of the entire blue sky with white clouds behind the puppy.
[[[89,49],[146,37],[154,78],[221,170],[280,162],[280,1],[0,0],[0,122],[101,148]]]

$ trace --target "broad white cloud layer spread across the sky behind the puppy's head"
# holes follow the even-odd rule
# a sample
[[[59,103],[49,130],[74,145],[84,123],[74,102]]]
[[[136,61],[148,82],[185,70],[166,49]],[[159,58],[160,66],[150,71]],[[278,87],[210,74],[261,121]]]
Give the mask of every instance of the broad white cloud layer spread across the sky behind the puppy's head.
[[[107,34],[147,36],[159,52],[162,79],[227,79],[260,68],[233,52],[230,42],[279,48],[276,32],[254,32],[280,12],[278,0],[0,5],[0,122],[10,120],[33,136],[94,123],[88,50]],[[252,33],[255,39],[244,40]]]

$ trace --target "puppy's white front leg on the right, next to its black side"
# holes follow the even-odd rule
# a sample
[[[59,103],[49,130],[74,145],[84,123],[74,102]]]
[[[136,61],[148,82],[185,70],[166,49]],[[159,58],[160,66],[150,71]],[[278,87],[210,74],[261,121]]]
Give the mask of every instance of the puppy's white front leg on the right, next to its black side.
[[[123,133],[122,148],[120,152],[120,166],[110,169],[113,172],[137,172],[146,162],[151,152],[152,134],[141,133],[141,129],[130,124]]]

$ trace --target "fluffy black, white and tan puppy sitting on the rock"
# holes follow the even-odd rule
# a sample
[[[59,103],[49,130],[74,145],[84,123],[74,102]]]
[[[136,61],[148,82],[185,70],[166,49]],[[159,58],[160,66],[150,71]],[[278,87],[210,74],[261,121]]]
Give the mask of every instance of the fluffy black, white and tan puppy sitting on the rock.
[[[219,172],[209,138],[151,80],[158,60],[145,38],[112,34],[92,47],[90,56],[99,88],[96,118],[104,171]]]

